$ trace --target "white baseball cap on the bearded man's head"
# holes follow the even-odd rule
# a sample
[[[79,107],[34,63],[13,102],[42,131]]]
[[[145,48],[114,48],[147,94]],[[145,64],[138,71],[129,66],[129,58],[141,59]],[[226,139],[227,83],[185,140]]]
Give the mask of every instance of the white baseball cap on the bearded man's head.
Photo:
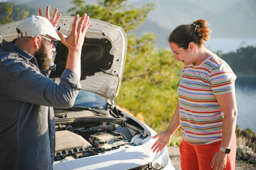
[[[51,22],[41,16],[31,16],[21,21],[16,28],[18,37],[35,37],[36,35],[49,35],[60,41],[54,26]]]

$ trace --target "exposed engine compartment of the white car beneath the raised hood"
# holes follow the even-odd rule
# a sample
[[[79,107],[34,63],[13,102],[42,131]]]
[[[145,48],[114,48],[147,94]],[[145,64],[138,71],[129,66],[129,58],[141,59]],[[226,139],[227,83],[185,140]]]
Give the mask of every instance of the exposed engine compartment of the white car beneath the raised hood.
[[[141,145],[144,130],[127,122],[79,122],[56,124],[54,161],[104,154],[123,145]]]

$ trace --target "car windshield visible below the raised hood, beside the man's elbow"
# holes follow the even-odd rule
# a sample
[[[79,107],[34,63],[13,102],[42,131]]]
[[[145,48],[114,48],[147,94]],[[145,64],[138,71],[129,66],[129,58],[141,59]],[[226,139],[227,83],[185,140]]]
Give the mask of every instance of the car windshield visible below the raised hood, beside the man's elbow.
[[[80,90],[74,103],[74,107],[102,107],[107,101],[94,92]]]

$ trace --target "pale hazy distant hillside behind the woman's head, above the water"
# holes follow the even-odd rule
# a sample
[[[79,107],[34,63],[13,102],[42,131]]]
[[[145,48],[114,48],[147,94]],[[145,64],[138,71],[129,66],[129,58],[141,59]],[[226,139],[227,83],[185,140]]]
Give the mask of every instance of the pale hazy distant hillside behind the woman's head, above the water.
[[[148,18],[166,29],[205,18],[211,24],[213,37],[256,37],[256,0],[155,0],[154,3]]]

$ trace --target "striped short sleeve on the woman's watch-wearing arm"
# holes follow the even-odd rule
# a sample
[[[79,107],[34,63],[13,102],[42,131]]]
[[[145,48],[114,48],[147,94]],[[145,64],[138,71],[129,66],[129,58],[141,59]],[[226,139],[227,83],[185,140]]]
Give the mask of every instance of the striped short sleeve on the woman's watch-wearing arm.
[[[210,73],[210,84],[214,95],[235,91],[236,75],[229,66],[216,65]]]

